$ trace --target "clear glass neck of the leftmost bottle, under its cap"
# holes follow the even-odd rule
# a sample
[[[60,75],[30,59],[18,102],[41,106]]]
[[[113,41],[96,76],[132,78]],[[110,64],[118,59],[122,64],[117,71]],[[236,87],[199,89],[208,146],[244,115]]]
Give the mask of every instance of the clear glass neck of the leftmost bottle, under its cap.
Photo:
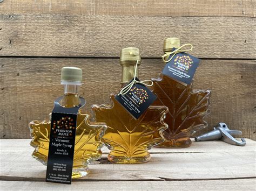
[[[64,84],[62,107],[72,108],[79,105],[79,87],[73,84]]]

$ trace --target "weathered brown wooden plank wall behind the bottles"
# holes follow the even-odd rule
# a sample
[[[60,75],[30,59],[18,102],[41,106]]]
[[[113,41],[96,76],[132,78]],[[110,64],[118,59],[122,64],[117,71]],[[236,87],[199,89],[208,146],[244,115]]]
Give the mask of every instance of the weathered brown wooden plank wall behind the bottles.
[[[83,69],[85,110],[120,82],[121,48],[139,47],[140,79],[157,77],[163,40],[192,43],[194,88],[211,89],[218,122],[256,139],[255,1],[15,1],[0,3],[0,138],[29,138],[62,94],[60,69]],[[206,131],[206,130],[205,130]]]

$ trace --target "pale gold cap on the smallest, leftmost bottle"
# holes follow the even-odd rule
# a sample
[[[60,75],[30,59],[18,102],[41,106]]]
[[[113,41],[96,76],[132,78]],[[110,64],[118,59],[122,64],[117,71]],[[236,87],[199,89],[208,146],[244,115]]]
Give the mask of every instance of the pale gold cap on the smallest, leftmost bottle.
[[[82,85],[82,69],[76,67],[63,67],[60,83]]]

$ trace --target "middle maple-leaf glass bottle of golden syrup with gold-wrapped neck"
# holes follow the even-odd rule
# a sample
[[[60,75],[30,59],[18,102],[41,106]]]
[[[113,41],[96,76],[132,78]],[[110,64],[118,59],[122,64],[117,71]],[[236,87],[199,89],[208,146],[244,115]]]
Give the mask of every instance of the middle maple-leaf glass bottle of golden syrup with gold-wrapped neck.
[[[134,74],[137,61],[140,65],[138,48],[122,49],[120,55],[120,65],[123,68],[121,88],[125,87],[134,75],[138,77],[138,72]],[[115,96],[110,95],[110,105],[92,105],[96,121],[107,124],[103,142],[110,149],[108,159],[121,164],[149,161],[148,150],[164,141],[161,134],[167,128],[163,122],[167,108],[150,106],[138,119],[135,119],[114,98]]]

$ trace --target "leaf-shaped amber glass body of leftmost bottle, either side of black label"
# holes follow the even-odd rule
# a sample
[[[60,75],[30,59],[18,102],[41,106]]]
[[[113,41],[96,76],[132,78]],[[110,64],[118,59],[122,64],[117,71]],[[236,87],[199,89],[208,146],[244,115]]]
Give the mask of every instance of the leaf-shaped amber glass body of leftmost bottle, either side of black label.
[[[89,117],[87,114],[81,114],[80,110],[78,111],[73,171],[86,168],[102,155],[100,148],[103,146],[101,138],[105,131],[105,125],[90,122]],[[47,165],[51,115],[48,121],[30,122],[29,128],[32,137],[30,145],[35,147],[32,157]]]

